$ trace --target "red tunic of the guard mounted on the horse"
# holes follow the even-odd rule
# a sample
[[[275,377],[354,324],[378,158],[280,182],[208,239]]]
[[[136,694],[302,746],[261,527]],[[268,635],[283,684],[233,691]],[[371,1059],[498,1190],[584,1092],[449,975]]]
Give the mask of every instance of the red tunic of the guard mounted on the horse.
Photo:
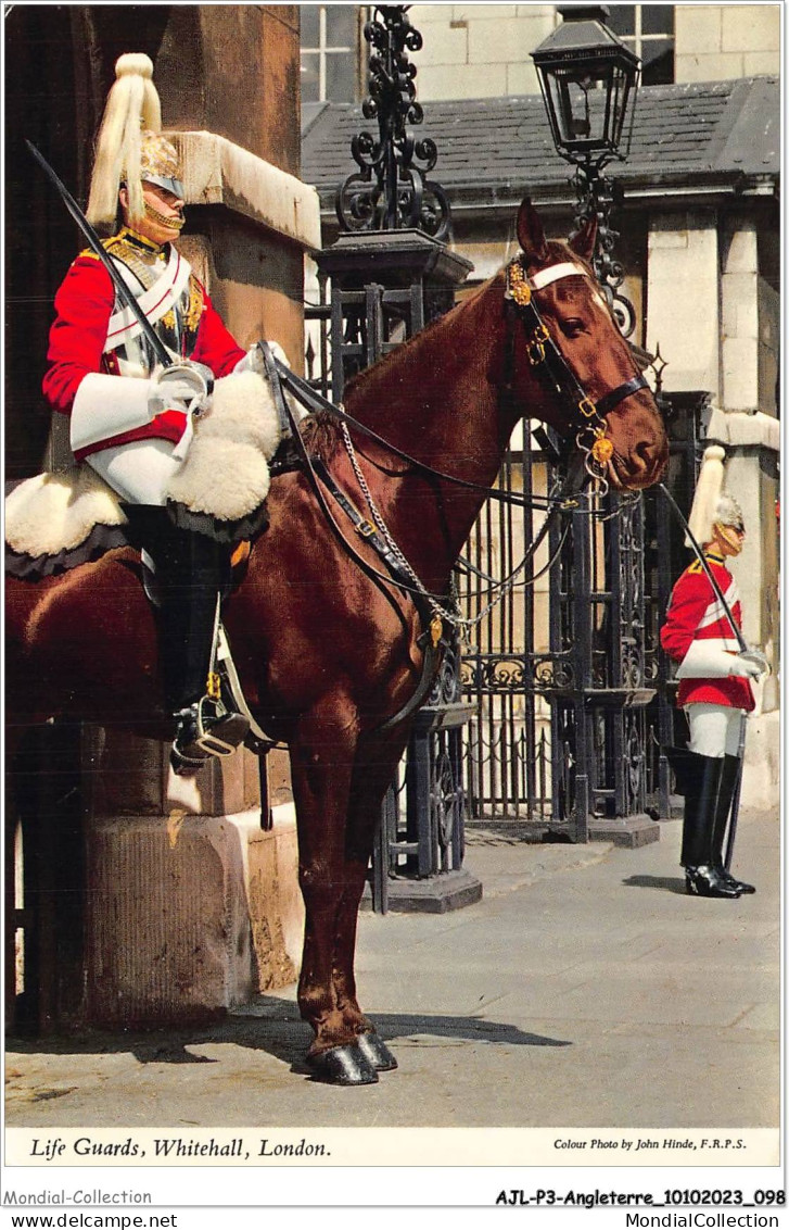
[[[106,246],[111,244],[108,241]],[[190,335],[188,353],[183,358],[204,363],[215,378],[227,375],[243,358],[245,351],[222,325],[194,274],[189,277],[189,293],[192,304],[197,306],[195,332]],[[88,373],[119,374],[116,352],[106,349],[107,326],[114,310],[116,289],[109,274],[93,253],[82,253],[69,268],[55,295],[55,320],[47,353],[49,367],[43,381],[44,397],[53,410],[71,413],[77,389]],[[143,427],[77,450],[76,458],[81,460],[91,453],[132,440],[159,438],[177,443],[184,427],[183,413],[166,410]]]

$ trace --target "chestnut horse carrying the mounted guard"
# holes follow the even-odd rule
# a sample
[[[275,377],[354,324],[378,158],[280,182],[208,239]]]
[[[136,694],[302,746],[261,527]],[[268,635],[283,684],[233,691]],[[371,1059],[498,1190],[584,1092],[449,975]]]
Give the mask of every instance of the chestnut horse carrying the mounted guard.
[[[521,284],[530,279],[569,373],[600,405],[612,446],[608,482],[618,491],[650,486],[666,462],[666,435],[587,263],[591,228],[569,244],[547,241],[525,200],[517,237],[522,255],[510,279],[512,267]],[[494,483],[516,421],[538,418],[562,434],[579,428],[578,405],[530,362],[522,321],[510,320],[506,279],[501,271],[347,390],[349,415],[417,461],[469,485],[408,465],[351,432],[392,538],[434,594],[447,592],[484,502],[473,485]],[[531,352],[533,360],[533,343]],[[612,390],[618,396],[608,397]],[[364,509],[337,432],[313,423],[306,438]],[[249,708],[290,752],[306,908],[299,1005],[315,1031],[307,1060],[323,1080],[369,1084],[396,1061],[356,1000],[356,916],[381,800],[409,721],[381,727],[419,684],[422,620],[408,594],[351,558],[304,472],[277,478],[268,512],[269,529],[254,544],[224,620]],[[348,538],[372,568],[385,571],[350,524]],[[134,560],[122,549],[61,577],[9,582],[15,721],[20,713],[23,722],[70,715],[166,737],[154,616]]]

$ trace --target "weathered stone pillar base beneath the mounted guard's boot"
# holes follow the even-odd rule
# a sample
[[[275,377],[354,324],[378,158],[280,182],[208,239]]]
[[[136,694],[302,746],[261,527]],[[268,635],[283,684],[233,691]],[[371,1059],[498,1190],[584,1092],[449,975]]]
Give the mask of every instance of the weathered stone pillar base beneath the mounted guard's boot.
[[[84,732],[93,1023],[210,1020],[297,974],[292,817],[261,829],[258,770],[246,750],[193,779],[176,777],[166,754],[151,739]]]

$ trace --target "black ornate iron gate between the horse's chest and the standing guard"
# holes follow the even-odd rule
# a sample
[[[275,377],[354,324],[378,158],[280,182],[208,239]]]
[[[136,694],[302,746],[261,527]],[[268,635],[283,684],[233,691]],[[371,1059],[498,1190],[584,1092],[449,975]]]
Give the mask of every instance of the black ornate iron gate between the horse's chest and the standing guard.
[[[688,510],[705,395],[659,401],[671,440],[666,481]],[[554,466],[527,438],[514,444],[499,486],[544,494]],[[517,565],[542,515],[483,509],[468,555],[488,585]],[[479,578],[461,573],[463,613],[482,616],[462,656],[463,695],[474,707],[467,823],[629,844],[649,840],[653,820],[671,814],[664,749],[678,742],[682,715],[659,626],[686,563],[682,534],[650,491],[579,503],[487,614]]]

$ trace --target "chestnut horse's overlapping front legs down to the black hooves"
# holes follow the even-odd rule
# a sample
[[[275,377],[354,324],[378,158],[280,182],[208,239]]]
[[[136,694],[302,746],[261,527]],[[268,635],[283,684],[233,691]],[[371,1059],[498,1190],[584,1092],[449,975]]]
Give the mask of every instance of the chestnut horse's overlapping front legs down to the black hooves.
[[[369,1085],[377,1074],[356,1044],[358,1006],[349,1015],[347,996],[336,984],[344,903],[355,894],[360,873],[364,883],[361,868],[347,859],[355,734],[351,723],[342,726],[340,715],[342,706],[336,706],[328,721],[302,723],[290,747],[305,904],[299,1007],[315,1031],[307,1061],[317,1075],[338,1085]]]

